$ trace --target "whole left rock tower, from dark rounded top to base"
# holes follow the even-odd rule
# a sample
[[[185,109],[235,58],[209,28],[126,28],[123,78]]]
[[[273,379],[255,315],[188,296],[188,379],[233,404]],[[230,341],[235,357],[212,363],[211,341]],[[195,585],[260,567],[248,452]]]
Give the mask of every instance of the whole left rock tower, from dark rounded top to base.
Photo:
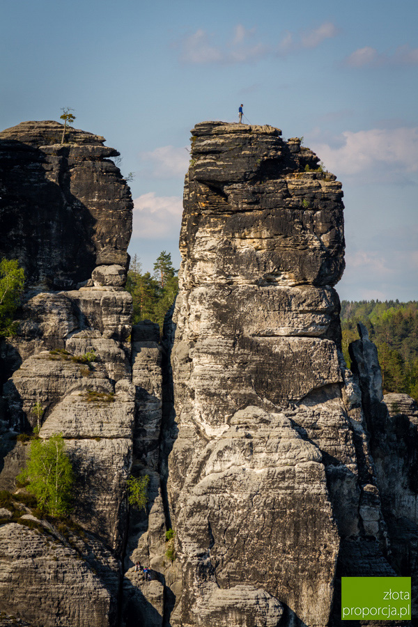
[[[18,258],[27,279],[17,334],[2,345],[0,488],[13,493],[26,460],[17,433],[61,433],[77,477],[72,531],[63,536],[37,511],[2,518],[0,610],[33,627],[111,627],[135,419],[123,288],[132,201],[106,158],[116,150],[74,129],[61,145],[62,130],[23,123],[0,134],[0,256]]]

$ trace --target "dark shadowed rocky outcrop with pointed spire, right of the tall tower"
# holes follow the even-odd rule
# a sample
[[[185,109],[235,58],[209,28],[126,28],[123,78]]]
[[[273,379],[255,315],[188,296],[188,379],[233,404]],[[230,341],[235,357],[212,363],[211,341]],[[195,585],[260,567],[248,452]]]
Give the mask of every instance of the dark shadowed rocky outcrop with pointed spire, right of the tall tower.
[[[362,392],[370,449],[387,523],[391,562],[396,572],[412,575],[412,615],[418,609],[418,431],[417,403],[407,394],[382,394],[376,346],[366,327],[350,344],[352,369]]]

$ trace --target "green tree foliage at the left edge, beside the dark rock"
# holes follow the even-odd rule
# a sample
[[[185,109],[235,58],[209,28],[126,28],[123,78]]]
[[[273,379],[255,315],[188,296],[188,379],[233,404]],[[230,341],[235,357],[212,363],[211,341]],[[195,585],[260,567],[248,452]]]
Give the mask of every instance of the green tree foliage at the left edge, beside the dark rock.
[[[13,318],[23,294],[24,270],[16,259],[0,261],[0,337],[15,334]]]

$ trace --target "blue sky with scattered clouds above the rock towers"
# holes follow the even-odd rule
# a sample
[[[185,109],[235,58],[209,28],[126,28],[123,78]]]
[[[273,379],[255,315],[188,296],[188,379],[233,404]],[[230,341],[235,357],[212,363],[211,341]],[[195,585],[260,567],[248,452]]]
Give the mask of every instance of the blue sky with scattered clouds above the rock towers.
[[[417,300],[416,0],[0,0],[0,127],[104,135],[134,172],[130,254],[178,267],[189,130],[235,121],[304,136],[343,183],[349,300]]]

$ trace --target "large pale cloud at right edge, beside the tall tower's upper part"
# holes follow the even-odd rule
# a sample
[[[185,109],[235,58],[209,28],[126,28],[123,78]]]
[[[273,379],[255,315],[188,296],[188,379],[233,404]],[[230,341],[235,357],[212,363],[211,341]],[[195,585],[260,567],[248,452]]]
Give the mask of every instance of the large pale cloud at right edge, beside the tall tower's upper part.
[[[362,183],[410,183],[418,173],[418,127],[345,131],[336,144],[316,144],[325,167]]]

